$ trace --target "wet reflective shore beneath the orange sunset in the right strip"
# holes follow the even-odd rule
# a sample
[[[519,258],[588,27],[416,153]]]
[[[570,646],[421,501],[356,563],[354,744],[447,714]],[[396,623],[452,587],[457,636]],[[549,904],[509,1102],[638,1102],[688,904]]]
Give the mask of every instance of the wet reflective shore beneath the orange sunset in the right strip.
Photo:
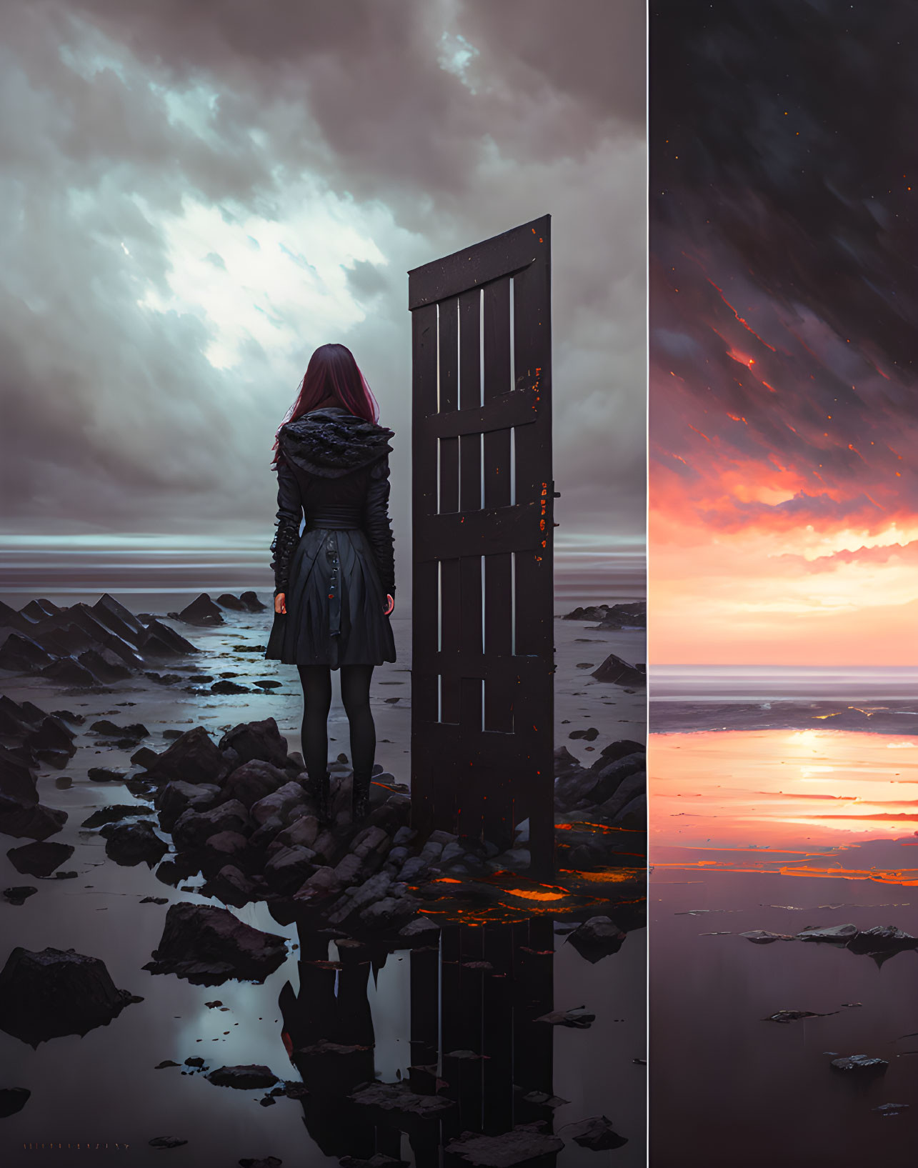
[[[877,961],[739,934],[892,924],[918,937],[918,738],[883,703],[772,703],[758,721],[752,707],[679,705],[651,715],[669,730],[649,738],[652,1168],[909,1162],[916,952]],[[826,1016],[764,1021],[778,1010]],[[830,1066],[854,1054],[889,1066]],[[872,1110],[889,1103],[911,1106]]]

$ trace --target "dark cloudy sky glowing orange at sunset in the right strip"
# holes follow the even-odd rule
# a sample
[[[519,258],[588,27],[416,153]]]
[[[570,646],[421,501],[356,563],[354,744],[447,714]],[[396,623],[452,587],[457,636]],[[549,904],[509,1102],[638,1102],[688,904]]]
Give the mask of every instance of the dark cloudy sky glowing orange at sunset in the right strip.
[[[918,13],[714,8],[652,5],[649,660],[913,663]]]

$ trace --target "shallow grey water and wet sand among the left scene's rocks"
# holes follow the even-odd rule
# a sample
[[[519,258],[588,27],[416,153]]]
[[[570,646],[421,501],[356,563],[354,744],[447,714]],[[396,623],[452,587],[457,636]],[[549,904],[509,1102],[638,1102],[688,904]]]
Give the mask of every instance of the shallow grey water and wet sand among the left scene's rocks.
[[[65,595],[43,593],[60,604]],[[196,593],[151,597],[119,596],[133,611],[165,613],[178,610]],[[216,595],[213,593],[213,595]],[[13,596],[14,605],[22,600]],[[76,599],[84,599],[77,597]],[[270,600],[270,596],[263,596]],[[203,1056],[210,1069],[223,1064],[263,1063],[284,1079],[298,1072],[287,1057],[281,1038],[284,1017],[278,1000],[288,981],[294,993],[300,976],[297,962],[295,926],[280,926],[264,903],[249,904],[236,915],[248,924],[288,938],[290,957],[264,985],[229,981],[218,987],[197,987],[172,975],[152,975],[141,966],[159,941],[169,903],[190,901],[213,904],[194,891],[175,890],[157,881],[146,864],[119,867],[106,858],[104,840],[79,825],[93,809],[105,804],[133,802],[123,785],[90,783],[86,770],[93,765],[128,769],[133,749],[97,748],[97,736],[88,732],[97,717],[116,722],[142,722],[151,731],[142,745],[160,751],[168,739],[166,729],[183,730],[202,723],[218,737],[221,730],[238,722],[273,716],[288,739],[291,751],[299,749],[301,697],[295,668],[263,660],[258,646],[266,644],[271,614],[224,613],[227,623],[216,628],[179,625],[202,652],[199,659],[180,659],[182,666],[196,665],[214,676],[231,673],[234,681],[251,686],[258,679],[281,681],[272,693],[239,695],[183,693],[181,688],[158,686],[144,677],[132,677],[107,687],[111,691],[65,693],[47,681],[12,680],[0,688],[16,701],[34,701],[42,709],[68,708],[86,717],[78,730],[79,750],[63,771],[39,772],[43,802],[62,807],[69,820],[53,839],[72,843],[72,857],[63,865],[77,871],[75,880],[36,880],[16,872],[6,856],[11,847],[27,841],[4,836],[0,878],[4,888],[35,884],[36,895],[21,906],[0,904],[4,917],[6,954],[15,945],[27,948],[74,947],[102,958],[119,988],[142,995],[144,1001],[128,1006],[109,1026],[84,1037],[62,1037],[42,1043],[37,1050],[0,1034],[0,1061],[5,1084],[32,1091],[25,1108],[2,1121],[0,1149],[11,1164],[69,1163],[158,1163],[167,1155],[178,1166],[235,1164],[241,1156],[279,1156],[285,1164],[336,1163],[324,1154],[304,1124],[300,1103],[280,1098],[274,1106],[262,1107],[262,1091],[231,1091],[213,1086],[199,1073],[182,1076],[185,1068],[154,1070],[162,1059],[179,1063]],[[409,781],[408,750],[410,730],[410,623],[394,618],[399,660],[380,667],[374,675],[373,703],[377,730],[377,762],[401,781]],[[577,757],[590,762],[591,750],[617,738],[644,739],[644,694],[623,694],[619,687],[598,683],[577,662],[598,665],[610,652],[627,660],[644,660],[642,632],[591,632],[586,623],[556,620],[556,742],[569,744]],[[589,644],[576,638],[587,638]],[[239,648],[245,646],[245,648]],[[263,651],[262,651],[263,652]],[[639,653],[639,655],[638,655]],[[167,672],[164,668],[161,672]],[[181,672],[174,666],[168,672]],[[586,674],[586,676],[583,676]],[[329,723],[329,755],[349,756],[347,722],[335,693]],[[398,702],[387,697],[398,696]],[[608,703],[608,704],[607,704]],[[568,723],[563,719],[568,718]],[[569,741],[566,732],[577,725],[594,725],[599,736],[592,743]],[[389,739],[385,742],[384,739]],[[186,882],[194,887],[193,878]],[[166,904],[141,904],[144,897],[165,897]],[[600,911],[606,911],[605,909]],[[568,1100],[554,1113],[554,1129],[587,1115],[605,1113],[628,1142],[614,1152],[616,1162],[637,1168],[645,1162],[645,1075],[634,1063],[644,1057],[645,1023],[645,933],[630,934],[618,953],[589,964],[563,933],[555,934],[557,955],[551,959],[552,976],[547,985],[547,1008],[568,1009],[586,1003],[597,1013],[587,1030],[551,1028],[549,1050],[555,1094]],[[327,958],[335,958],[329,940]],[[411,955],[408,951],[377,954],[374,975],[366,987],[371,1014],[374,1045],[370,1071],[385,1082],[406,1077],[411,1062]],[[220,1000],[223,1008],[204,1003]],[[454,1004],[444,1001],[450,1010]],[[310,1004],[304,1009],[308,1014]],[[317,1003],[317,1009],[320,1006]],[[175,1134],[187,1145],[166,1153],[147,1141],[157,1135]],[[50,1143],[64,1145],[63,1148]],[[82,1147],[75,1148],[74,1145]],[[88,1149],[86,1145],[91,1145]],[[120,1145],[116,1147],[114,1145]],[[70,1145],[70,1147],[67,1147]],[[96,1147],[99,1145],[99,1147]],[[125,1148],[124,1145],[127,1145]],[[401,1138],[399,1154],[410,1163],[415,1153],[406,1136]],[[561,1168],[596,1164],[612,1153],[594,1153],[571,1140],[557,1156]]]

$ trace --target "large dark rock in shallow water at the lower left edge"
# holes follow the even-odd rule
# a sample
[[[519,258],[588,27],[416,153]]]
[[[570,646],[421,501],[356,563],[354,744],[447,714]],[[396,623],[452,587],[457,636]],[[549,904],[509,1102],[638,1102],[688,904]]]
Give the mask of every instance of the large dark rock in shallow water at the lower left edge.
[[[116,989],[98,958],[18,946],[0,972],[0,1029],[37,1047],[48,1038],[107,1026],[128,1002],[140,1000]]]

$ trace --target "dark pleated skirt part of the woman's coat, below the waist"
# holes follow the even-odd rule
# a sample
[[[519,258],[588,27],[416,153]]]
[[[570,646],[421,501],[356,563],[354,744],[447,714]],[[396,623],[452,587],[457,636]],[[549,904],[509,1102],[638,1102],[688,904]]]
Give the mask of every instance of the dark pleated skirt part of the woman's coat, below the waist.
[[[274,613],[265,658],[285,665],[395,661],[385,593],[360,528],[304,531],[290,564],[286,613]]]

